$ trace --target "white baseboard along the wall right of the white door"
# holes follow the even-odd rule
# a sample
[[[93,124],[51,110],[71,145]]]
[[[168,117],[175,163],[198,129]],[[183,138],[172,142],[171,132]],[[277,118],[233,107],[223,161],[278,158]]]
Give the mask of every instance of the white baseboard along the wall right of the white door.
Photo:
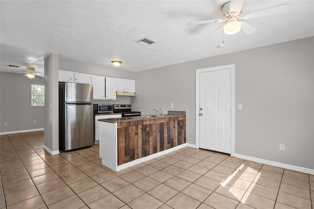
[[[245,156],[245,155],[240,155],[240,154],[235,154],[235,157],[238,157],[241,159],[246,159],[246,160],[251,160],[254,162],[263,163],[266,165],[272,165],[272,166],[276,166],[276,167],[280,167],[280,168],[285,168],[285,169],[289,169],[292,171],[298,171],[301,173],[314,175],[314,169],[310,169],[310,168],[304,168],[304,167],[300,167],[300,166],[289,165],[289,164],[285,164],[285,163],[281,163],[281,162],[275,162],[275,161],[271,161],[271,160],[267,160],[267,159]]]

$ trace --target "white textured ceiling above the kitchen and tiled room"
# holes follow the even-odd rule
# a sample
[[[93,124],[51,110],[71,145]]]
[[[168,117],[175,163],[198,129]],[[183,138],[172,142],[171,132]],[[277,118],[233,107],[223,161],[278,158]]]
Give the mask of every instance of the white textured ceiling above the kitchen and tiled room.
[[[204,39],[223,23],[187,26],[192,21],[221,19],[228,0],[1,0],[1,68],[3,72],[44,71],[44,58],[60,58],[142,71],[314,36],[313,0],[248,0],[242,14],[283,3],[287,13],[245,20],[254,34]],[[244,42],[241,43],[241,34]],[[137,43],[146,37],[150,46]],[[20,68],[8,67],[18,65]]]

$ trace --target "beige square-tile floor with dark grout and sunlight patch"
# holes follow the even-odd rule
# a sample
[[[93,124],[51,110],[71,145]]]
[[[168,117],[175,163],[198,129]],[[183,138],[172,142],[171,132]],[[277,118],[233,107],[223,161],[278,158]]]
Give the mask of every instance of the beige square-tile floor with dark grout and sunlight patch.
[[[188,147],[113,172],[98,145],[51,156],[43,136],[1,135],[1,209],[314,209],[313,175]]]

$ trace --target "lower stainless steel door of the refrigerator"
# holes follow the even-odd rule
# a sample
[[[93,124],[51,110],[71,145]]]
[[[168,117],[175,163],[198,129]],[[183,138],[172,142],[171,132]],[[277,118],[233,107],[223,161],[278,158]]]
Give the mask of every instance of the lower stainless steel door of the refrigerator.
[[[65,151],[93,145],[93,105],[65,104],[64,108]]]

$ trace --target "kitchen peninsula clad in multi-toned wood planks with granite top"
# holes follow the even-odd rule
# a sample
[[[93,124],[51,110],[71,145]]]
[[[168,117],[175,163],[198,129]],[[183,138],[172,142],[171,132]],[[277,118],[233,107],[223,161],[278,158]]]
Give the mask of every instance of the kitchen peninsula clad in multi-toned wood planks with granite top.
[[[185,111],[164,116],[98,120],[100,157],[106,167],[120,171],[186,146]]]

